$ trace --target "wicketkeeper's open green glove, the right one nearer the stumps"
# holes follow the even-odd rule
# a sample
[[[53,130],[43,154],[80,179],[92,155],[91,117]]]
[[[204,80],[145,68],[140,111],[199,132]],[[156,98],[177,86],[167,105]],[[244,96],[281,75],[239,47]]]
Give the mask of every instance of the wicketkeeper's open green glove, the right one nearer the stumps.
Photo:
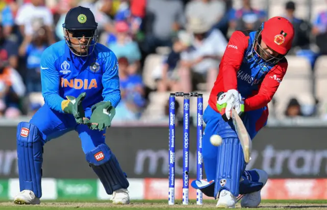
[[[91,130],[104,130],[111,126],[111,121],[116,111],[109,101],[99,102],[91,107],[89,128]]]

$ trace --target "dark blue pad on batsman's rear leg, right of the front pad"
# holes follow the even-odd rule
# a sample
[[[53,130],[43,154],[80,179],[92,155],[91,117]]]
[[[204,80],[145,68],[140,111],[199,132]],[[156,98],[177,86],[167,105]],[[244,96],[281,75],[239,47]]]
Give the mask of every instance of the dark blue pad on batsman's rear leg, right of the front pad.
[[[244,171],[240,182],[240,194],[248,194],[260,191],[264,183],[259,182],[259,174],[256,171]]]

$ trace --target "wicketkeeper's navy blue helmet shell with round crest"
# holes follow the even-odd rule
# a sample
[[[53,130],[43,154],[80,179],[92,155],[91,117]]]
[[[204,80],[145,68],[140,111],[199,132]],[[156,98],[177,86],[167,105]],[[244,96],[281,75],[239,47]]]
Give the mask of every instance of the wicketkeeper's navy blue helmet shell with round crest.
[[[62,27],[67,30],[96,30],[98,23],[89,8],[79,6],[67,12]]]

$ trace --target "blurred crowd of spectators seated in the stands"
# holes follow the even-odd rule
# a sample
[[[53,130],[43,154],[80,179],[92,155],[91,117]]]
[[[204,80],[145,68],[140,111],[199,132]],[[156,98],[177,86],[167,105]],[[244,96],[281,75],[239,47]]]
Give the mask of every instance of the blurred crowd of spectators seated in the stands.
[[[279,15],[295,28],[289,55],[306,56],[314,69],[316,58],[327,55],[327,10],[301,19],[294,15],[295,0],[259,2],[269,7],[277,1],[283,4]],[[241,7],[235,8],[235,2]],[[121,120],[141,118],[153,91],[210,91],[231,33],[256,31],[271,17],[251,0],[0,0],[1,116],[32,115],[42,105],[40,57],[63,40],[65,14],[75,6],[94,12],[99,42],[119,59],[122,101],[115,119]],[[143,69],[153,54],[163,59],[151,67],[147,77],[154,85],[149,86]],[[303,114],[294,98],[285,115],[311,116],[314,111]]]

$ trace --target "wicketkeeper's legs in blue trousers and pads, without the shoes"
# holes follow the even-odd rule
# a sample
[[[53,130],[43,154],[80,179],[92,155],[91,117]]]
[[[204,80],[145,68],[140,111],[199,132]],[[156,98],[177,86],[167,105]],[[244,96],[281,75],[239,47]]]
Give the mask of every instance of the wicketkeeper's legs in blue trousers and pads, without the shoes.
[[[89,117],[90,109],[85,110]],[[98,175],[108,195],[119,189],[127,189],[129,182],[118,160],[105,144],[105,131],[90,130],[78,125],[72,114],[60,113],[42,106],[30,123],[21,122],[17,129],[17,155],[20,191],[31,190],[41,198],[42,147],[53,138],[76,130],[81,138],[86,161]],[[59,151],[60,152],[60,151]]]

